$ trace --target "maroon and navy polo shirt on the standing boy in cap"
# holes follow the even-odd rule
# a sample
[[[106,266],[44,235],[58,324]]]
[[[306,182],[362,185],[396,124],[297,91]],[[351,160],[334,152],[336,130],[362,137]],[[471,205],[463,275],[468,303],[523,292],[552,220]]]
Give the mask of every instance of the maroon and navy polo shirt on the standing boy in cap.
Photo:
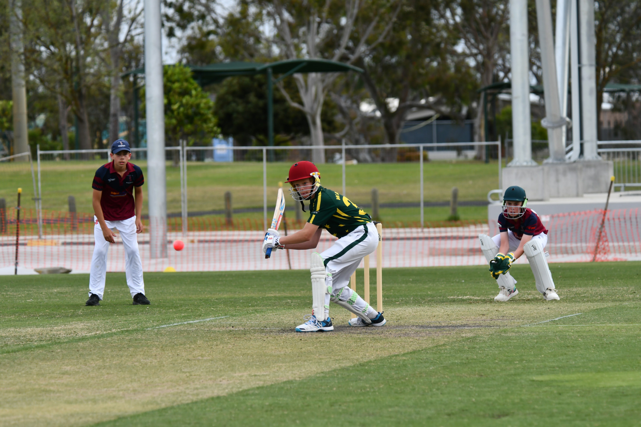
[[[100,166],[94,176],[93,189],[102,191],[100,206],[104,220],[122,221],[135,216],[136,204],[133,188],[145,183],[140,167],[127,163],[127,170],[121,175],[113,168],[113,161]]]

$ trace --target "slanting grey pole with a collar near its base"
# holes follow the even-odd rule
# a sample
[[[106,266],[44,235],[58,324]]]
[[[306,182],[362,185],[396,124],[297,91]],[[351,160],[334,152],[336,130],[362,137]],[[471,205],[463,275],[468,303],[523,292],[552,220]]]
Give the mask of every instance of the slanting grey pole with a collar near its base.
[[[547,140],[550,147],[550,157],[545,161],[547,163],[564,163],[563,125],[565,125],[566,119],[561,113],[559,103],[550,0],[537,0],[536,4],[538,42],[541,48],[541,68],[545,94],[545,118],[541,121],[541,124],[547,128]]]

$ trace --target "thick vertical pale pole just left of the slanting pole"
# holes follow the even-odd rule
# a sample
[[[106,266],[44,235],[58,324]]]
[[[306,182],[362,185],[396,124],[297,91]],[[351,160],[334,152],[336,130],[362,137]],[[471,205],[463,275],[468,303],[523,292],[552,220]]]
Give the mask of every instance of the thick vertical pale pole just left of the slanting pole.
[[[529,112],[528,2],[510,0],[512,56],[512,139],[514,159],[508,166],[531,166],[532,124]],[[479,106],[479,108],[483,108]]]

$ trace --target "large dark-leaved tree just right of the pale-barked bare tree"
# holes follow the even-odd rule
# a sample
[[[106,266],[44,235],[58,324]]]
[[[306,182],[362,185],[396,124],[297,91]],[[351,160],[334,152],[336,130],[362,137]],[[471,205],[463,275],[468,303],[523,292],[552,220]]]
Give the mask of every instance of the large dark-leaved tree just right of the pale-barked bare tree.
[[[465,58],[454,51],[458,38],[435,19],[437,1],[404,0],[389,6],[393,7],[387,13],[393,17],[391,28],[371,32],[356,65],[365,70],[362,80],[381,114],[385,142],[395,144],[413,108],[463,118],[476,79]],[[372,18],[363,14],[354,33],[365,33]],[[386,36],[381,39],[374,34]],[[395,159],[395,150],[390,150],[387,161]]]

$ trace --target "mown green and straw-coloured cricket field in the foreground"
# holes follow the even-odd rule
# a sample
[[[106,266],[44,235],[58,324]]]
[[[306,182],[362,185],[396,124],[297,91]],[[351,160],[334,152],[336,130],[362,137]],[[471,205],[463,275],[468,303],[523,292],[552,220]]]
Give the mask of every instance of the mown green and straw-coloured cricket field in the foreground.
[[[639,425],[641,262],[552,264],[554,302],[512,270],[508,303],[484,267],[384,270],[386,326],[317,334],[306,271],[149,273],[149,306],[109,274],[99,307],[4,276],[0,425]]]

